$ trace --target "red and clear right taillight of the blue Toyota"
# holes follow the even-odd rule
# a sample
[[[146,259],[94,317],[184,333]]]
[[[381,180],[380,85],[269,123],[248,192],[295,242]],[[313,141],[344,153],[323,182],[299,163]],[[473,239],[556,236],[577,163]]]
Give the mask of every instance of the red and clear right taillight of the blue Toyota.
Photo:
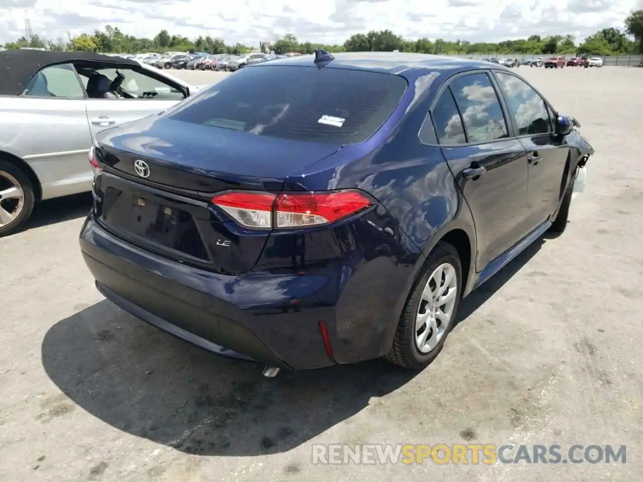
[[[230,192],[212,198],[241,226],[251,229],[293,229],[329,224],[371,206],[358,191],[271,193]]]

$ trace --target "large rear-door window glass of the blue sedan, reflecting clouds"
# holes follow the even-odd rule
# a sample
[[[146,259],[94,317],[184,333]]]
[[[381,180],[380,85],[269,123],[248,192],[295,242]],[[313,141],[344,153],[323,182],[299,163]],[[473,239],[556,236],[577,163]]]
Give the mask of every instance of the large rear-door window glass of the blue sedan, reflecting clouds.
[[[469,143],[507,138],[507,123],[500,100],[487,74],[464,75],[455,78],[450,85]]]

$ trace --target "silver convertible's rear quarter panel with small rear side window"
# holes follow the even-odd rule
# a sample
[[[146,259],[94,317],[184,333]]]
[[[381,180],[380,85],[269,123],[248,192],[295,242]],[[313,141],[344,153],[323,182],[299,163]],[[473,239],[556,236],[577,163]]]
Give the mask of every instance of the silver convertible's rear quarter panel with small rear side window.
[[[42,199],[91,189],[91,133],[84,91],[73,67],[45,67],[21,96],[3,99],[0,146],[22,157],[37,175]]]

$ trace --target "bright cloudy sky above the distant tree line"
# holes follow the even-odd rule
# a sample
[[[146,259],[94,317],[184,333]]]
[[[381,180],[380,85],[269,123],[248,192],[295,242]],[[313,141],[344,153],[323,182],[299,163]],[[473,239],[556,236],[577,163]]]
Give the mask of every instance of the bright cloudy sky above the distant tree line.
[[[642,0],[643,1],[643,0]],[[353,33],[390,29],[408,39],[497,42],[572,33],[578,40],[603,27],[622,28],[636,0],[1,0],[0,44],[33,33],[55,39],[105,24],[137,37],[212,35],[258,45],[285,33],[311,42],[342,43]]]

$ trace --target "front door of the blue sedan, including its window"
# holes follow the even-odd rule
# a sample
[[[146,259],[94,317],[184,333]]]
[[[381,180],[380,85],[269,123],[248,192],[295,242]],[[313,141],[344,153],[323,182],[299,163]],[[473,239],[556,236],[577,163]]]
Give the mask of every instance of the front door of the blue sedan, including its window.
[[[516,137],[527,150],[529,224],[535,228],[555,210],[563,189],[569,155],[565,139],[554,134],[555,122],[545,100],[527,82],[509,72],[494,76],[505,98]]]

